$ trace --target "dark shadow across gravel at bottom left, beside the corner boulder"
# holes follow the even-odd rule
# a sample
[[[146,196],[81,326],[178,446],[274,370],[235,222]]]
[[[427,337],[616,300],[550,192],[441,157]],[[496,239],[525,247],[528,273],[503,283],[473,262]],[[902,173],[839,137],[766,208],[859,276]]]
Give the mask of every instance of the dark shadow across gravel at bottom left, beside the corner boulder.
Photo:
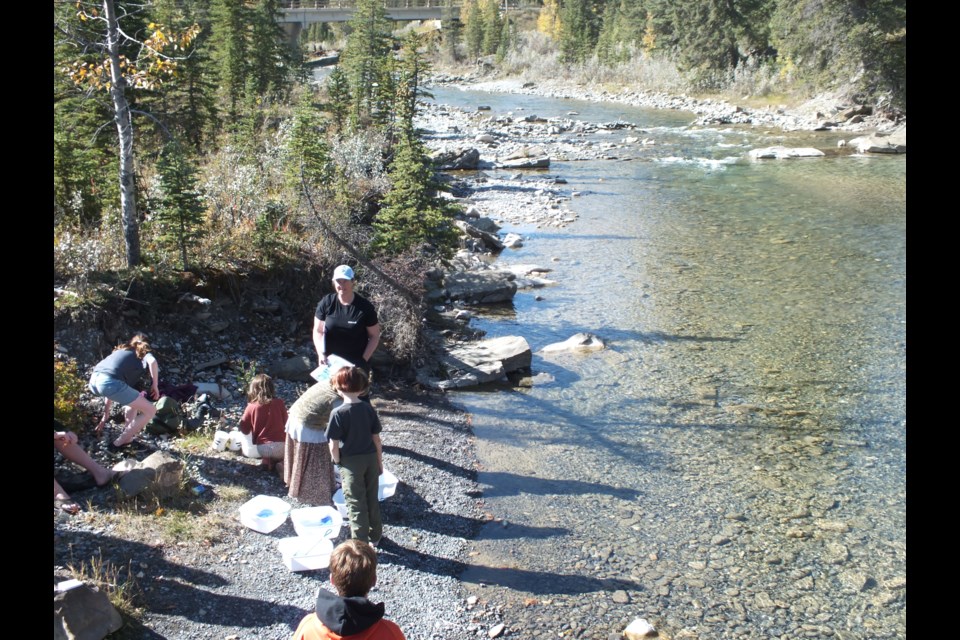
[[[253,598],[219,595],[215,589],[228,587],[229,581],[216,574],[170,562],[162,549],[92,532],[57,534],[54,539],[54,563],[61,566],[88,564],[98,556],[129,558],[136,604],[157,615],[188,618],[205,625],[259,628],[276,623],[289,624],[305,613],[300,607],[277,605]],[[126,577],[126,567],[120,576]],[[129,624],[130,621],[128,621]],[[142,627],[142,625],[140,625]],[[292,632],[292,630],[291,630]],[[123,637],[162,637],[144,628],[144,635],[124,633]]]

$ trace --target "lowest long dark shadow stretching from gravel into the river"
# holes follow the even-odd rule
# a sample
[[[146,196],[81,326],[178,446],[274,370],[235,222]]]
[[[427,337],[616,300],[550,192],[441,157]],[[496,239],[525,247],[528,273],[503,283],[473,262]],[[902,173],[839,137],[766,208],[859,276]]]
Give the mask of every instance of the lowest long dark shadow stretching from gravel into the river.
[[[642,591],[643,586],[632,580],[612,580],[587,576],[527,571],[508,567],[487,567],[458,560],[445,560],[395,543],[381,546],[378,559],[384,564],[402,566],[414,571],[458,576],[462,582],[497,585],[537,595],[577,594],[616,591]]]

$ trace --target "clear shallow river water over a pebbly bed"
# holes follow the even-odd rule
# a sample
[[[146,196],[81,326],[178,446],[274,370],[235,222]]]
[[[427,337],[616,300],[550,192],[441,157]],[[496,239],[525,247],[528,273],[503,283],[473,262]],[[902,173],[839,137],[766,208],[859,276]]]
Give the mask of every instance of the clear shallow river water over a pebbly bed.
[[[534,358],[532,386],[454,394],[494,518],[471,591],[519,638],[906,637],[905,156],[752,162],[853,136],[434,94],[655,140],[555,160],[577,221],[504,228],[499,260],[558,284],[474,320]],[[579,332],[607,348],[538,353]]]

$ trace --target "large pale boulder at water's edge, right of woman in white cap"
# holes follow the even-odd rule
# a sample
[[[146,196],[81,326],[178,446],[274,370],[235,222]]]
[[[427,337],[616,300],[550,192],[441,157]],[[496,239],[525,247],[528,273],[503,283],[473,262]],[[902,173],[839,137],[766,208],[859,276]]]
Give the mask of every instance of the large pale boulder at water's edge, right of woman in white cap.
[[[451,349],[443,357],[449,379],[434,381],[432,386],[458,389],[493,382],[508,373],[529,369],[532,360],[530,345],[520,336],[472,342]]]

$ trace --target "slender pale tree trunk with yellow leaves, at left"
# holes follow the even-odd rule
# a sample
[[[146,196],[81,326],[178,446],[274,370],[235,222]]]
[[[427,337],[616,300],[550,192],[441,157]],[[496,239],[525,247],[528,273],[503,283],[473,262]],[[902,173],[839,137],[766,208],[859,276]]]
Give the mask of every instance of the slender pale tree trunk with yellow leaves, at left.
[[[140,263],[140,219],[137,216],[137,193],[133,169],[133,122],[130,105],[124,93],[126,79],[120,70],[120,27],[114,0],[103,0],[107,21],[107,55],[110,57],[110,98],[113,100],[114,122],[120,139],[120,212],[123,239],[127,248],[127,267]]]

